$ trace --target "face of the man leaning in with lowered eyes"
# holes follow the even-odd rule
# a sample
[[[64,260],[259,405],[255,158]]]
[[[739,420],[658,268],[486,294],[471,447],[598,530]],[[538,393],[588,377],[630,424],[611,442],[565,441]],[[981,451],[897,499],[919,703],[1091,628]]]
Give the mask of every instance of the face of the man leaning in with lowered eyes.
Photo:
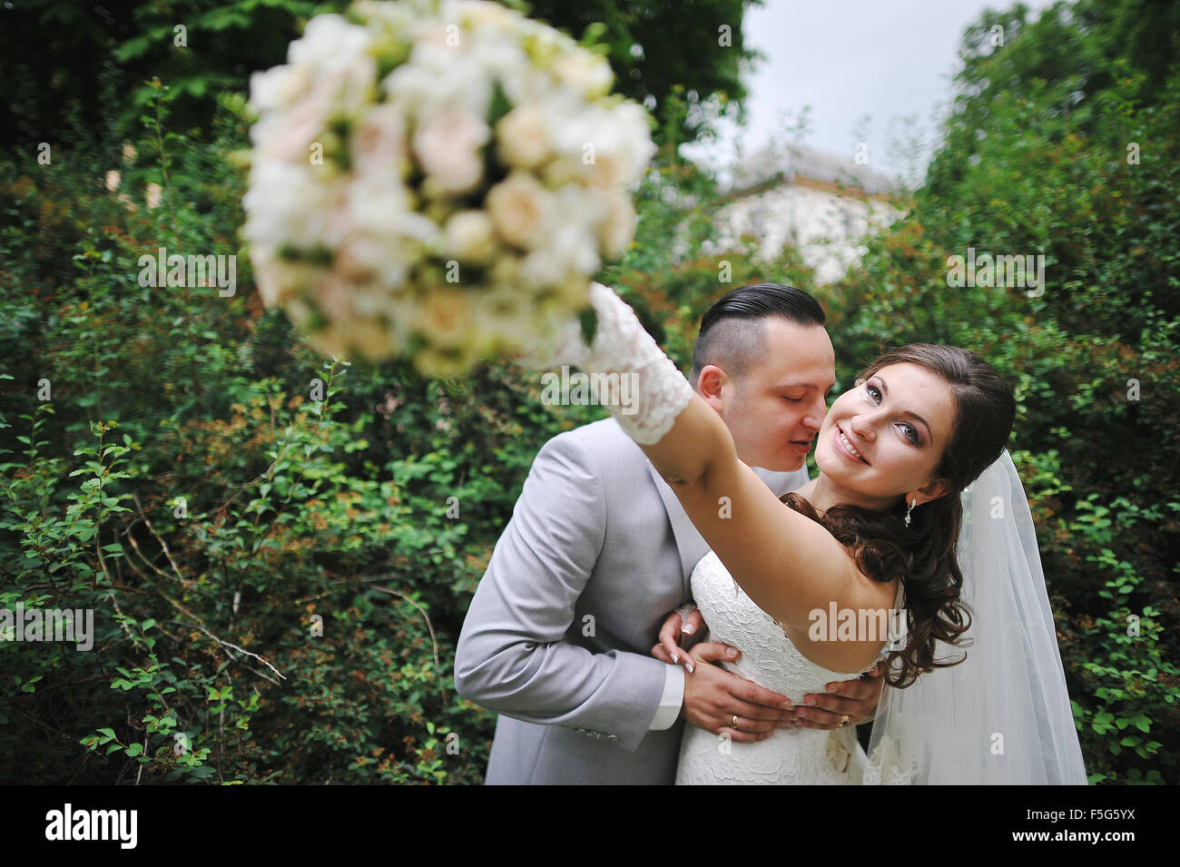
[[[835,352],[822,326],[782,316],[767,316],[761,324],[763,350],[739,376],[713,374],[719,386],[700,390],[721,414],[742,461],[778,472],[800,469],[835,386]],[[708,374],[706,368],[702,386]]]

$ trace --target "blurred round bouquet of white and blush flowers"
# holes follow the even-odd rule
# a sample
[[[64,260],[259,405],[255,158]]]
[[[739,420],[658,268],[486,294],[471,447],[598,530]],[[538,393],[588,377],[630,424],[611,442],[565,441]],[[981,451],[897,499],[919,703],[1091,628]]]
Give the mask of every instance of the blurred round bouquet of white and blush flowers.
[[[544,352],[635,234],[655,146],[601,55],[494,2],[362,1],[255,73],[245,237],[321,353]]]

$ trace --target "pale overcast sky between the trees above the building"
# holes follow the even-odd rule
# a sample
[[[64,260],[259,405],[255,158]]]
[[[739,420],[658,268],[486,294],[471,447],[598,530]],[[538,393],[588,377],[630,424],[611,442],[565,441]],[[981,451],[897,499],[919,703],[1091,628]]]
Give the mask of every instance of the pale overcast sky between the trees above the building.
[[[1037,11],[1049,0],[1025,0]],[[747,77],[749,126],[742,147],[753,152],[772,136],[786,140],[786,120],[811,105],[802,139],[850,159],[857,142],[867,144],[868,168],[897,176],[905,162],[890,152],[899,134],[920,134],[926,156],[935,113],[945,111],[958,70],[963,31],[988,6],[1008,0],[766,0],[746,13],[746,44],[766,57]],[[1034,15],[1032,18],[1035,18]],[[860,121],[868,114],[867,125]],[[913,121],[913,123],[910,123]],[[866,134],[858,134],[858,125]],[[686,156],[719,169],[734,159],[736,130],[726,125],[715,146]],[[925,158],[918,160],[920,169]]]

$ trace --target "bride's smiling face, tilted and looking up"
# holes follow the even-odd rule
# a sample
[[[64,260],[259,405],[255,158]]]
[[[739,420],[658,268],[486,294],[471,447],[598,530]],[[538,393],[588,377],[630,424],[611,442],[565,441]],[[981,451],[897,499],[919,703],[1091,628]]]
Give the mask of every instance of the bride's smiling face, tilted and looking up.
[[[942,377],[910,362],[890,364],[835,400],[815,464],[841,503],[884,510],[906,497],[922,505],[949,490],[937,469],[953,425],[955,399]]]

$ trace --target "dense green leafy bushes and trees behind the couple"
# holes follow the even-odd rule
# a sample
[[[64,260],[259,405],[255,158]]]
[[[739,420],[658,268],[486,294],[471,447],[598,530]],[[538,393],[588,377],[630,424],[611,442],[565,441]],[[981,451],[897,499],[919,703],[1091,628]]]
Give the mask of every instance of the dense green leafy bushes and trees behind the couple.
[[[341,6],[4,12],[0,607],[93,607],[97,635],[88,653],[0,643],[0,782],[483,779],[493,717],[454,695],[454,639],[537,449],[603,413],[543,406],[509,364],[463,381],[334,364],[262,309],[240,236],[247,78]],[[821,288],[789,248],[702,251],[723,193],[676,147],[745,96],[742,2],[533,9],[578,38],[603,22],[621,91],[656,101],[636,244],[601,280],[684,369],[708,304],[773,280],[831,311],[843,387],[917,340],[975,349],[1016,386],[1011,448],[1094,782],[1180,776],[1178,8],[981,17],[925,185]],[[160,245],[236,254],[237,294],[140,288]],[[968,245],[1045,255],[1044,295],[948,288]]]

